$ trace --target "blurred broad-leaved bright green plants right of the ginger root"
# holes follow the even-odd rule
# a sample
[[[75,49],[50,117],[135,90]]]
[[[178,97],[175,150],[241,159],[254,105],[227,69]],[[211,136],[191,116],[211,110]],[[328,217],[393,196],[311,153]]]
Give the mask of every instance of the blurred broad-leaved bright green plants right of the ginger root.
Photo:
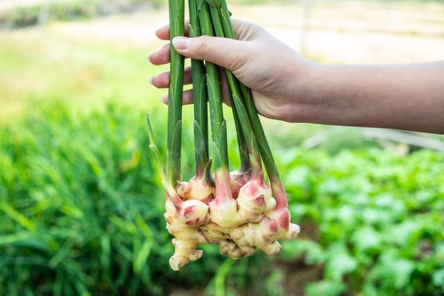
[[[318,234],[284,244],[286,261],[323,264],[308,295],[441,295],[444,154],[379,149],[284,154],[293,217]],[[279,153],[278,153],[279,155]]]

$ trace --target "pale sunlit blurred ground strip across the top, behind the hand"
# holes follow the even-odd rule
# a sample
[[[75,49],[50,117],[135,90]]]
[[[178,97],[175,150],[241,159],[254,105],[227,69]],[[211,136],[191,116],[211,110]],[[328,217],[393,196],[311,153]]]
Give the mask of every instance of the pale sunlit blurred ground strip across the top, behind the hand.
[[[3,5],[6,2],[0,0]],[[311,8],[305,54],[315,60],[376,63],[444,59],[443,4],[376,5],[354,1],[335,7],[326,5]],[[298,6],[232,6],[231,10],[234,17],[261,24],[292,48],[299,49]],[[0,32],[0,39],[44,34],[61,42],[110,42],[114,46],[148,49],[162,44],[155,39],[154,31],[167,19],[167,10],[139,12]]]

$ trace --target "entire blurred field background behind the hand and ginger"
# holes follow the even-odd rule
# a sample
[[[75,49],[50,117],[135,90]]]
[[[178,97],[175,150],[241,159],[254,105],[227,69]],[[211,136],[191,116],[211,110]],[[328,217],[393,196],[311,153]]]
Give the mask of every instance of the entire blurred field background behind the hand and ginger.
[[[299,48],[296,4],[231,10]],[[314,1],[309,15],[304,53],[318,62],[443,59],[442,3]],[[150,112],[164,151],[165,92],[148,78],[167,68],[146,56],[166,20],[148,10],[0,31],[0,295],[444,293],[443,152],[359,128],[264,121],[302,237],[236,262],[209,246],[169,270],[144,130]],[[233,132],[230,143],[234,169]]]

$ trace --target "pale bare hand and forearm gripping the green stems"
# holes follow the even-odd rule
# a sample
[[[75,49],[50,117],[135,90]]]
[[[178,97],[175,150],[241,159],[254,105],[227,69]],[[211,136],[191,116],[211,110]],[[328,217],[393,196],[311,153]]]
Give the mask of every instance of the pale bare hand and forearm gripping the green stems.
[[[302,57],[264,28],[232,19],[237,40],[176,37],[187,58],[230,69],[253,90],[262,116],[289,122],[396,128],[444,134],[444,61],[417,64],[327,65]],[[185,26],[187,28],[187,26]],[[169,40],[169,26],[156,31]],[[169,63],[170,44],[151,54],[151,63]],[[151,78],[167,88],[169,72]],[[191,84],[191,69],[185,69]],[[224,101],[228,87],[223,81]],[[167,98],[162,98],[167,103]],[[184,104],[192,103],[185,91]]]

